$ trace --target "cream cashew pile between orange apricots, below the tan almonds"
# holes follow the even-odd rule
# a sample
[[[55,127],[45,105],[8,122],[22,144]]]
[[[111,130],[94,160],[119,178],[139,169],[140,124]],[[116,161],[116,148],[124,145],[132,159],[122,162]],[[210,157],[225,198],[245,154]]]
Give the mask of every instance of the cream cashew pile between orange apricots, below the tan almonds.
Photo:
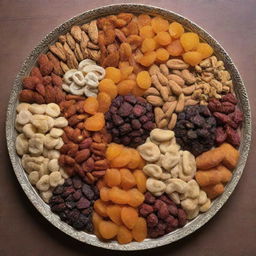
[[[143,168],[148,176],[147,190],[155,196],[167,193],[182,206],[187,218],[193,219],[211,207],[211,200],[193,179],[195,157],[189,151],[180,150],[174,135],[173,131],[156,128],[137,150],[147,162]]]

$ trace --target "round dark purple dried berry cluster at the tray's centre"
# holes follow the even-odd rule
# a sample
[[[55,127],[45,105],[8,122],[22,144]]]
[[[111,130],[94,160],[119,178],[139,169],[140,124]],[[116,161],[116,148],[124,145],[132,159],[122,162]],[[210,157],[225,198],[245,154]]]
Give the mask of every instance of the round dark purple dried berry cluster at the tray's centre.
[[[152,105],[133,95],[116,97],[105,118],[113,141],[131,147],[144,143],[155,128]]]

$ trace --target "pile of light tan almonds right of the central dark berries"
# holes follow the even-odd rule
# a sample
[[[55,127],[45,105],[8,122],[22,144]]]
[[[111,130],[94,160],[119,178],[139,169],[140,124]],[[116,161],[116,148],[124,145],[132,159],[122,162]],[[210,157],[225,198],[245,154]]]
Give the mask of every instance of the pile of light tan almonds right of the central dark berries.
[[[170,59],[166,64],[154,64],[149,69],[154,87],[150,87],[144,96],[155,106],[158,128],[172,130],[177,121],[177,113],[182,112],[187,105],[198,104],[198,101],[191,99],[196,79],[188,67],[183,60]]]

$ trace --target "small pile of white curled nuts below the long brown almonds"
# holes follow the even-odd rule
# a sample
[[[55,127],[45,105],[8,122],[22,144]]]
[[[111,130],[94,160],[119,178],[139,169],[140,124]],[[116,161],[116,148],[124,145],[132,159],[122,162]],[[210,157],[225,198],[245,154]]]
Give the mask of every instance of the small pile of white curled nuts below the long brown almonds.
[[[70,69],[65,73],[62,88],[74,95],[97,97],[99,81],[104,76],[104,68],[93,60],[85,59],[79,63],[78,69]]]

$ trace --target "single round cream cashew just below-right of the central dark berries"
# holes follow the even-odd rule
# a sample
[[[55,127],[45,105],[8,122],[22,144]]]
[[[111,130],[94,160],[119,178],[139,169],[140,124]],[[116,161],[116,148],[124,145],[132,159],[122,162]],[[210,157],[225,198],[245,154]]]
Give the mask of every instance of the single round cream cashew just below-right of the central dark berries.
[[[141,157],[147,162],[156,162],[160,158],[160,150],[152,142],[146,142],[140,145],[137,150],[139,151]]]

